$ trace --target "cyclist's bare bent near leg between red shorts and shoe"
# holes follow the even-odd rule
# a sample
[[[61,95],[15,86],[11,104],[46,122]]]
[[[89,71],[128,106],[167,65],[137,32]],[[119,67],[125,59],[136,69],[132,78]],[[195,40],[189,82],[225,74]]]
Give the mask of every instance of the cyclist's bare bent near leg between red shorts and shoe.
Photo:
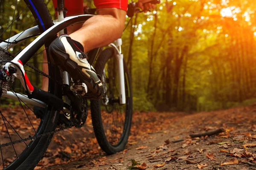
[[[81,29],[70,34],[73,40],[83,45],[84,52],[108,45],[122,35],[126,11],[119,8],[99,8],[97,13]]]

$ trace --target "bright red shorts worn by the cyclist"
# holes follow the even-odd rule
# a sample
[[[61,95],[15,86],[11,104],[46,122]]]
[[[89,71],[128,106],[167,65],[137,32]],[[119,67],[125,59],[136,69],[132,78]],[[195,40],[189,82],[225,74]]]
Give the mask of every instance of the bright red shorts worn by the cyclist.
[[[74,3],[76,1],[76,3]],[[65,7],[67,8],[67,15],[83,14],[84,2],[83,0],[65,0]],[[53,0],[53,5],[57,7],[57,0]],[[127,11],[128,0],[94,0],[96,8],[119,8]]]

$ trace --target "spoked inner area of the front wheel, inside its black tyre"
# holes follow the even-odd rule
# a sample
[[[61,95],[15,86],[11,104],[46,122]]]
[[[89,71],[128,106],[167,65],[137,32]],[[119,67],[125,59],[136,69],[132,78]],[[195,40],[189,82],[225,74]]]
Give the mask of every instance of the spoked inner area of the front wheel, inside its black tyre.
[[[130,121],[130,91],[128,87],[128,77],[125,72],[125,98],[126,104],[119,104],[119,83],[116,67],[116,59],[111,57],[105,65],[102,74],[102,84],[105,94],[101,99],[102,125],[106,139],[113,147],[119,146],[124,140]],[[108,101],[106,104],[106,100]]]

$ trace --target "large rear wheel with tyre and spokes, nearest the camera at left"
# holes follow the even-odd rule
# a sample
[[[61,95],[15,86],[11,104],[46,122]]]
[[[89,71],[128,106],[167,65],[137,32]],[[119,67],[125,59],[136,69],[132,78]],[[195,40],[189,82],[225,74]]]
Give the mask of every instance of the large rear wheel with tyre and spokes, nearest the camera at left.
[[[10,15],[9,12],[12,11]],[[31,23],[18,26],[18,22],[24,18],[31,18],[34,20]],[[9,20],[8,20],[9,18]],[[25,20],[25,19],[24,19]],[[8,22],[6,22],[8,21]],[[26,25],[26,26],[25,26]],[[49,27],[53,26],[52,18],[50,17],[47,6],[43,0],[1,0],[0,3],[0,42],[2,40],[8,40],[14,34],[17,34],[17,31],[24,31],[28,28],[31,28],[34,25],[38,25],[41,33],[47,30]],[[24,27],[25,26],[25,27]],[[28,27],[27,27],[28,26]],[[24,28],[25,29],[24,29]],[[31,39],[26,40],[26,44],[31,42]],[[12,44],[12,42],[8,42]],[[58,97],[61,97],[58,89],[61,89],[59,85],[53,79],[61,80],[59,69],[51,63],[51,60],[48,55],[48,45],[51,43],[49,40],[45,43],[45,48],[41,48],[41,51],[38,51],[37,54],[31,56],[33,63],[30,63],[34,67],[45,68],[48,66],[48,72],[52,79],[49,79],[48,91]],[[15,56],[17,55],[25,45],[17,45],[13,48],[6,48],[12,54],[9,54],[6,50],[0,51],[0,57],[2,56]],[[47,61],[42,60],[42,54],[46,52]],[[41,58],[40,58],[41,57]],[[6,58],[5,58],[6,59]],[[41,62],[40,62],[41,61]],[[40,66],[41,65],[41,66]],[[46,66],[47,65],[47,66]],[[26,68],[25,68],[26,69]],[[30,68],[27,68],[27,71],[32,71]],[[32,71],[31,74],[38,74],[37,71]],[[29,76],[29,73],[28,73]],[[32,77],[32,76],[31,76]],[[41,78],[40,78],[41,79]],[[40,80],[39,79],[39,80]],[[38,79],[35,79],[36,82]],[[14,82],[17,85],[16,82]],[[32,83],[33,84],[33,83]],[[40,84],[40,83],[39,83]],[[21,87],[21,86],[20,86]],[[10,92],[15,95],[25,94],[22,90],[17,90],[16,87],[10,87]],[[0,128],[1,128],[1,138],[0,144],[13,142],[17,139],[24,139],[29,136],[36,136],[42,133],[46,133],[52,130],[55,130],[57,121],[58,121],[58,112],[51,109],[51,107],[46,107],[43,109],[43,116],[40,119],[36,119],[33,113],[33,108],[31,105],[26,105],[19,97],[18,102],[10,99],[4,99],[3,96],[0,98]],[[20,106],[16,106],[18,104]],[[8,106],[8,107],[6,107]],[[9,112],[9,113],[8,113]],[[8,113],[8,114],[7,114]],[[23,115],[23,116],[21,116]],[[17,118],[22,117],[22,119]],[[27,126],[23,122],[28,122]],[[28,131],[26,131],[26,130]],[[30,130],[30,131],[29,131]],[[4,133],[4,134],[3,134]],[[0,169],[4,168],[5,170],[32,170],[41,160],[44,155],[47,147],[52,139],[53,135],[42,136],[36,139],[32,139],[27,142],[20,142],[18,144],[11,144],[7,147],[1,147],[0,155]],[[9,139],[9,141],[7,141]],[[22,146],[21,146],[22,145]],[[12,152],[12,153],[10,153]],[[7,154],[7,156],[6,156]],[[10,157],[14,155],[14,157]]]

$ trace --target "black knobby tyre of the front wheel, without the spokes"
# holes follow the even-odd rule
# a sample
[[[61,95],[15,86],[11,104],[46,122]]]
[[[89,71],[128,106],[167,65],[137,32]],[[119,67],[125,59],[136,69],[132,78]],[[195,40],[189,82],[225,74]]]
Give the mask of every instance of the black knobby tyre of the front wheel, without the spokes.
[[[100,54],[99,58],[95,64],[95,70],[97,74],[102,75],[106,63],[109,59],[114,56],[114,49],[107,48]],[[111,144],[107,139],[105,134],[104,125],[102,122],[102,113],[101,113],[101,99],[91,100],[91,117],[93,123],[93,130],[96,136],[96,139],[106,153],[113,154],[124,150],[125,145],[128,142],[128,137],[131,129],[131,120],[132,120],[132,88],[131,88],[131,77],[129,75],[128,67],[124,61],[124,73],[125,73],[125,96],[126,96],[126,113],[125,113],[125,123],[124,129],[122,131],[121,138],[117,144]]]

